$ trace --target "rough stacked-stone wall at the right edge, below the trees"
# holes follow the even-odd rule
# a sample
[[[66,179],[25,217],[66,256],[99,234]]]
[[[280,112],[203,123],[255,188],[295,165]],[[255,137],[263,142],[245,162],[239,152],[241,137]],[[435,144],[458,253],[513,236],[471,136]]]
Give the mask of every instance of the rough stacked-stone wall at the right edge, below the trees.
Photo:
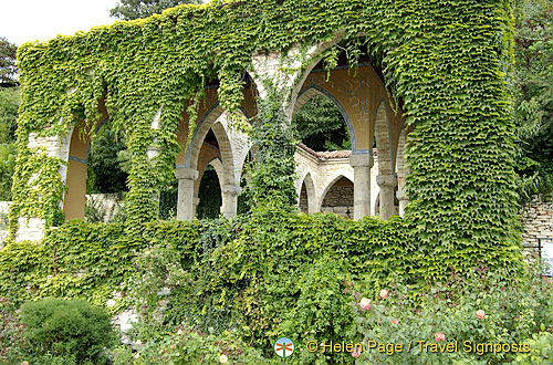
[[[541,201],[535,197],[520,211],[524,231],[522,244],[529,250],[538,250],[538,239],[553,239],[553,201]]]

